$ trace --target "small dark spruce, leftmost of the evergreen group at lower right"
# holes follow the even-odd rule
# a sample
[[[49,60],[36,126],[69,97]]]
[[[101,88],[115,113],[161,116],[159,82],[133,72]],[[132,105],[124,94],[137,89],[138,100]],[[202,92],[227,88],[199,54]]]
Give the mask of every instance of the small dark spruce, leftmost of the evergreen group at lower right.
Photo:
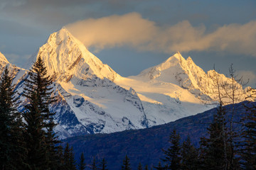
[[[176,130],[173,130],[169,140],[171,146],[167,150],[163,149],[163,152],[166,155],[163,161],[166,162],[168,169],[181,169],[180,139],[181,137],[176,133]]]

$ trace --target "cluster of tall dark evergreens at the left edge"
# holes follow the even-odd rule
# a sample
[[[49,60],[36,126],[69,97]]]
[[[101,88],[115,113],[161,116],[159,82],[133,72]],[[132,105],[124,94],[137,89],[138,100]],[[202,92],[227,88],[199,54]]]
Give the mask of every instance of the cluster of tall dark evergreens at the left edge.
[[[21,94],[14,91],[13,79],[6,67],[0,82],[0,169],[70,169],[72,149],[63,150],[53,132],[48,106],[56,98],[41,58],[29,70]]]

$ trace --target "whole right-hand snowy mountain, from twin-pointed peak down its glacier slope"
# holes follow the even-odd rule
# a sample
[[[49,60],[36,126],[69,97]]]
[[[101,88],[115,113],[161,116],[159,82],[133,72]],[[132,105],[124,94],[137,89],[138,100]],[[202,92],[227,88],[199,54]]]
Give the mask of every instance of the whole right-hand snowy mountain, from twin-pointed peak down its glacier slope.
[[[213,107],[203,105],[216,98],[213,75],[218,77],[221,84],[230,85],[231,79],[225,75],[214,70],[206,73],[191,57],[185,60],[177,52],[165,62],[145,69],[137,76],[118,79],[115,82],[127,89],[132,86],[137,91],[151,126],[169,123]],[[236,82],[235,87],[241,101],[250,95],[247,92],[250,88],[244,90]],[[221,93],[225,94],[225,91],[221,90]],[[227,98],[223,100],[230,101]]]

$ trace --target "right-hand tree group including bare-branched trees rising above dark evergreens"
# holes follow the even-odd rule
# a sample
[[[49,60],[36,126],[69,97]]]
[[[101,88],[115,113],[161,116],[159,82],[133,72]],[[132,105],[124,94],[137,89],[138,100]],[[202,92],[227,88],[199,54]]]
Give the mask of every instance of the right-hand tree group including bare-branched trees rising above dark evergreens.
[[[222,82],[220,75],[213,72],[214,86],[211,91],[218,102],[218,109],[213,115],[213,122],[207,128],[206,137],[201,137],[200,147],[191,144],[190,137],[181,144],[176,130],[171,132],[171,146],[163,149],[166,155],[155,169],[256,169],[256,106],[245,106],[245,113],[239,115],[242,127],[234,130],[235,103],[241,100],[239,86],[243,84],[238,79],[233,65],[230,66],[230,79]],[[255,100],[255,89],[250,89]],[[227,119],[223,103],[231,104],[230,118]]]

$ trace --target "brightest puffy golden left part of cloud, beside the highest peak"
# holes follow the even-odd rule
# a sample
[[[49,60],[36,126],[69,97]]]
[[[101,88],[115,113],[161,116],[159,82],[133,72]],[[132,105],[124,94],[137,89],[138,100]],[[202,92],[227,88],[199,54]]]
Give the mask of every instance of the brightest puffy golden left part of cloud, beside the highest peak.
[[[86,46],[98,49],[142,45],[151,40],[151,33],[156,33],[154,22],[143,19],[138,13],[88,19],[66,27]]]

